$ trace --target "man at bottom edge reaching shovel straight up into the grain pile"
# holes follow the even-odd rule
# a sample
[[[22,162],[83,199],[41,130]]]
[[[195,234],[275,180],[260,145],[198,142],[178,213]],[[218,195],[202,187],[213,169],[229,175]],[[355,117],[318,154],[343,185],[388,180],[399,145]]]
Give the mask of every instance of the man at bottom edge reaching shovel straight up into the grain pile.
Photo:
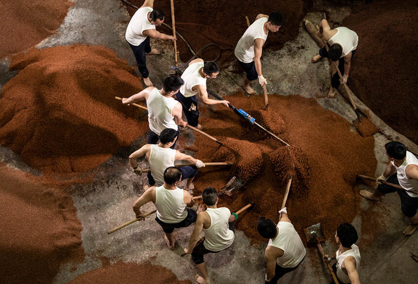
[[[286,207],[279,214],[277,225],[265,217],[260,217],[257,223],[259,234],[269,239],[265,249],[266,284],[276,284],[284,274],[295,270],[306,255],[305,247],[287,215]]]

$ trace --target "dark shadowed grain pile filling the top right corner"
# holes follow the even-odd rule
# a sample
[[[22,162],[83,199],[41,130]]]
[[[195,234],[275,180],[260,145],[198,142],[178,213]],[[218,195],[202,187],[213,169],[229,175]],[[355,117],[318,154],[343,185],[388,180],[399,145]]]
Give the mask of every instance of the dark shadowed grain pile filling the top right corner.
[[[418,143],[417,1],[373,1],[354,12],[343,22],[359,36],[348,83],[378,117]]]

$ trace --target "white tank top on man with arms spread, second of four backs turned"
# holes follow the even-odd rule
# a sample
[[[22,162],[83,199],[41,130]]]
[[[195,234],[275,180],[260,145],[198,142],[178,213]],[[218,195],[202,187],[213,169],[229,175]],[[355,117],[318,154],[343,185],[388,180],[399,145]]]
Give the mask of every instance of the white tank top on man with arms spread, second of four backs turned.
[[[167,167],[174,167],[175,150],[162,148],[157,144],[151,145],[150,163],[151,174],[156,181],[156,186],[164,184],[164,171]]]

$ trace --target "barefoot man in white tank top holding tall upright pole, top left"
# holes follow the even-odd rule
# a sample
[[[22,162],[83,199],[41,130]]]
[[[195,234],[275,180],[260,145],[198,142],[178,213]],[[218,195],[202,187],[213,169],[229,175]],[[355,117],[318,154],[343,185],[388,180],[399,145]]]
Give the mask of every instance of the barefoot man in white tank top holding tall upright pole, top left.
[[[160,54],[157,49],[151,49],[150,37],[176,40],[175,36],[157,32],[156,26],[160,26],[164,22],[164,13],[158,9],[154,10],[153,6],[154,0],[145,0],[132,16],[125,33],[125,39],[134,52],[139,73],[141,73],[147,87],[151,87],[153,84],[146,67],[145,54]]]

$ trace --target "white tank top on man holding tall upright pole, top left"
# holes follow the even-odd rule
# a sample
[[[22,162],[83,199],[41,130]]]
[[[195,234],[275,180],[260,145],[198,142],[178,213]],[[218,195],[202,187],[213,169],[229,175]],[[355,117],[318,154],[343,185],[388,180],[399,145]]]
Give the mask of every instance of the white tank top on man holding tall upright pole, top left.
[[[145,30],[155,30],[156,26],[148,20],[148,13],[154,9],[151,7],[139,8],[129,21],[126,28],[125,39],[134,46],[139,46],[146,38],[142,32]]]

